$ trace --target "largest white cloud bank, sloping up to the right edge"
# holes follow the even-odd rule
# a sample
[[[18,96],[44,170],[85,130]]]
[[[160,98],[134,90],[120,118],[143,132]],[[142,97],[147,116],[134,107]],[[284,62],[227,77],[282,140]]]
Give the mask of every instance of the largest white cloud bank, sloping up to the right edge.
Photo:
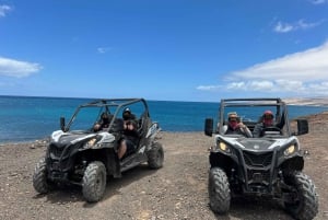
[[[266,92],[328,95],[328,42],[226,76],[226,83],[201,85],[202,91]]]

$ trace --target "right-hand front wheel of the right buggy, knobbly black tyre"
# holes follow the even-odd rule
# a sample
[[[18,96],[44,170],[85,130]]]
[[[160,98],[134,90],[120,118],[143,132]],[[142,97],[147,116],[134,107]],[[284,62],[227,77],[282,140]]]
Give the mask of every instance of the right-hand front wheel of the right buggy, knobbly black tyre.
[[[284,208],[295,219],[314,219],[318,212],[318,197],[313,181],[300,171],[285,176],[285,183],[295,190],[291,192],[292,200],[284,202]]]

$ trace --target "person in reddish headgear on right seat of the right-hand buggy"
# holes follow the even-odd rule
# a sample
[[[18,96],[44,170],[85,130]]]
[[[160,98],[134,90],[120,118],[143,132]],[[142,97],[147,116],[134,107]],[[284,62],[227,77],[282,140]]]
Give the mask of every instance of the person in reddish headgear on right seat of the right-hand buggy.
[[[268,127],[276,127],[277,129],[282,129],[283,121],[280,124],[274,124],[273,120],[274,116],[271,111],[265,111],[261,116],[261,121],[259,124],[256,124],[253,130],[253,137],[259,138],[263,136],[263,130]]]

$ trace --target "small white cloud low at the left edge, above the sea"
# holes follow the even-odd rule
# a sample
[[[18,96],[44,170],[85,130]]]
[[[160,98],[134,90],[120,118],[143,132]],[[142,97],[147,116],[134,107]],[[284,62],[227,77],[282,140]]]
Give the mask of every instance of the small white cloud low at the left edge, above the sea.
[[[23,78],[38,72],[42,68],[39,63],[0,57],[0,76]]]

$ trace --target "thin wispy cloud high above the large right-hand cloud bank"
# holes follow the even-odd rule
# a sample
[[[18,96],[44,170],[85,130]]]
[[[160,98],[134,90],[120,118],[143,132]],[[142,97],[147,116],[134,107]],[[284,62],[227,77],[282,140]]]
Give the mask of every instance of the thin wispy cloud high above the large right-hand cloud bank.
[[[277,33],[289,33],[289,32],[294,32],[297,30],[308,30],[316,27],[320,24],[323,24],[325,20],[318,21],[318,22],[313,22],[313,23],[307,23],[304,20],[298,20],[297,22],[294,23],[285,23],[285,22],[277,22],[277,24],[273,27],[273,31]]]

